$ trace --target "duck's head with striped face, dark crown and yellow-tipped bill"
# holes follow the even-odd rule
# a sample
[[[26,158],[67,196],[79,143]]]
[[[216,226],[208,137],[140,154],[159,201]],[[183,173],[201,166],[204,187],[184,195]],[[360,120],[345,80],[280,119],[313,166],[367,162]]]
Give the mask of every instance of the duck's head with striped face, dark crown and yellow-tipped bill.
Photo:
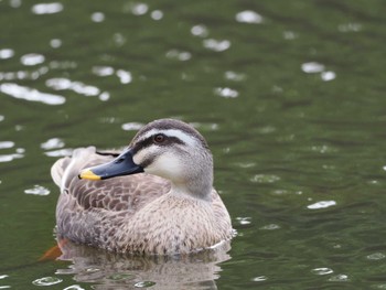
[[[170,180],[175,190],[199,195],[212,190],[213,160],[205,139],[174,119],[146,125],[115,160],[85,169],[79,178],[105,180],[141,172]]]

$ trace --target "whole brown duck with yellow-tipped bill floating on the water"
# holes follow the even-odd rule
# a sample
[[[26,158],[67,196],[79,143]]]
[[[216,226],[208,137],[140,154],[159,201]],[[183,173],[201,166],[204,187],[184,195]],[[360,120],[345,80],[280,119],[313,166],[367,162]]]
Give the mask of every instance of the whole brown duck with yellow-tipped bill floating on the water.
[[[233,237],[213,187],[213,157],[191,125],[159,119],[122,150],[75,149],[51,175],[61,193],[56,235],[75,244],[139,255],[190,254]]]

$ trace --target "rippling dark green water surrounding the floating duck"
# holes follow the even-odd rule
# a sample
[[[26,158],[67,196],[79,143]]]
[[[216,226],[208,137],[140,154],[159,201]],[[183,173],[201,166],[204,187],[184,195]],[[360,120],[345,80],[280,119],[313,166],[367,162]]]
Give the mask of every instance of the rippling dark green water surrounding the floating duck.
[[[385,1],[39,4],[0,1],[0,289],[386,289]],[[39,262],[53,162],[163,117],[211,146],[227,255]]]

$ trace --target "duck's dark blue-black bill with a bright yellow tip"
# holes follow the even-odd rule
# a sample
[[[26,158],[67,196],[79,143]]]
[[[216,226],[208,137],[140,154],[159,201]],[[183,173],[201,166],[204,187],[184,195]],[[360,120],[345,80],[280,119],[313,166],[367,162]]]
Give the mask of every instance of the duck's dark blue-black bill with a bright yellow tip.
[[[124,151],[112,161],[82,170],[79,179],[107,180],[143,172],[143,169],[132,160],[130,150]]]

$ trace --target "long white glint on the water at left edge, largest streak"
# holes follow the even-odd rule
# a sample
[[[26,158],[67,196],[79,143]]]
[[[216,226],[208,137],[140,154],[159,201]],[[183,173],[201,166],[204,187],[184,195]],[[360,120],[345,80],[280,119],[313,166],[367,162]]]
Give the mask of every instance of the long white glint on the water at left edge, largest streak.
[[[0,92],[18,99],[40,101],[46,105],[62,105],[66,100],[63,96],[42,93],[37,89],[19,86],[12,83],[1,84]]]

